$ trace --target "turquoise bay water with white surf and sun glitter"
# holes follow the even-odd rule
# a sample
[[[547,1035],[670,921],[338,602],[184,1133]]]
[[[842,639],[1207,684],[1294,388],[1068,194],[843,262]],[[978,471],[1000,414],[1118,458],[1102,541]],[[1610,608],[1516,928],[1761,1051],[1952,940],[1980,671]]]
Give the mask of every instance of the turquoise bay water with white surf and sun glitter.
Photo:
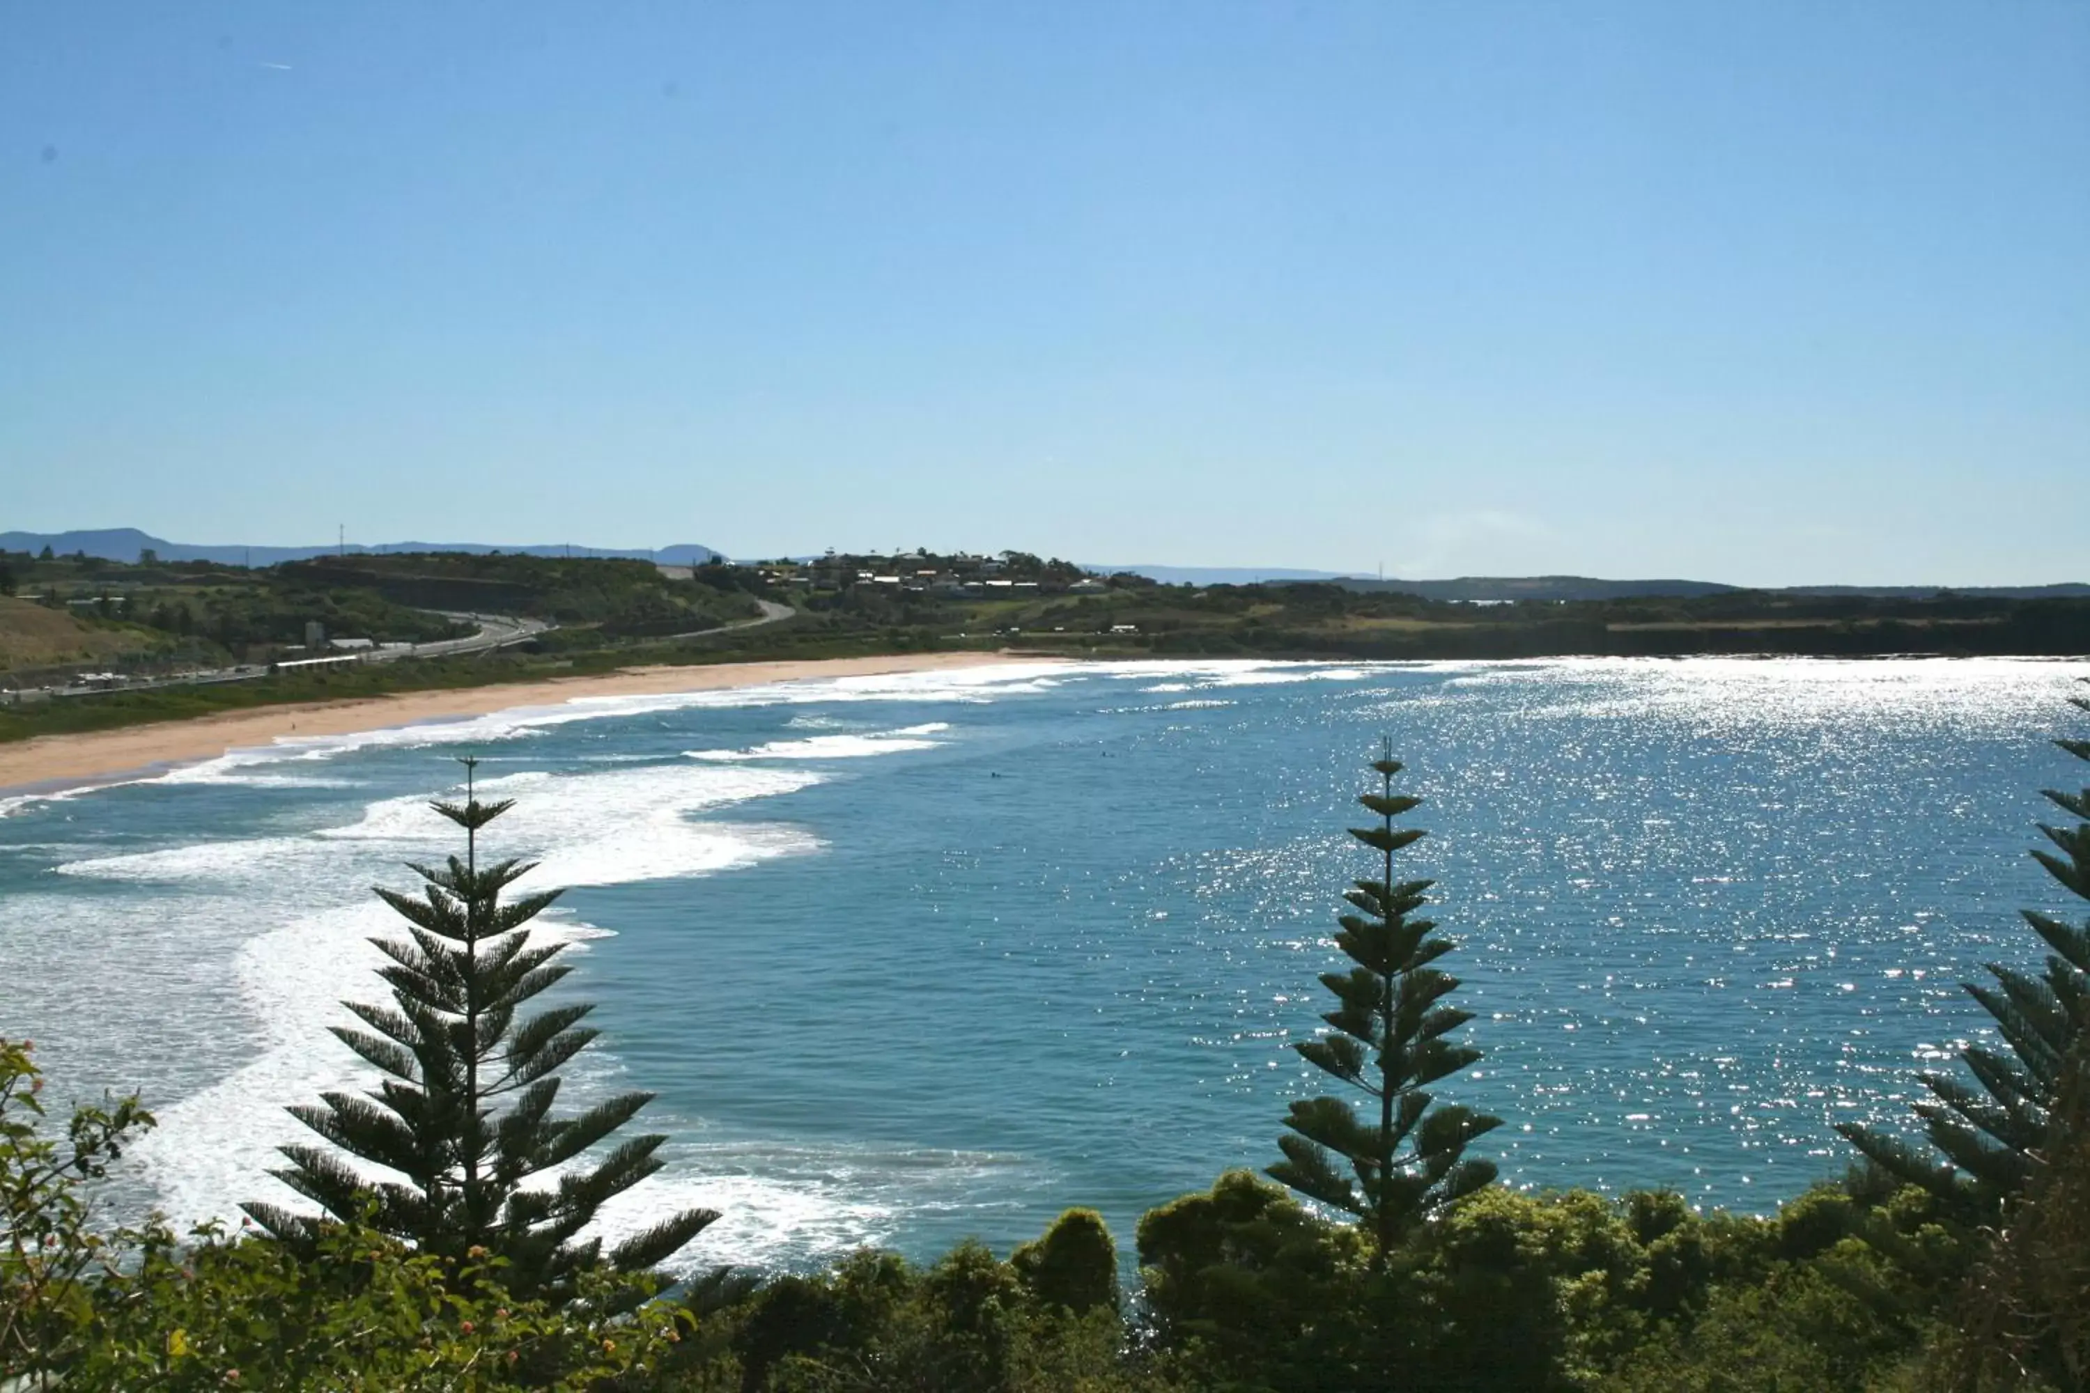
[[[242,752],[0,804],[0,1034],[56,1088],[142,1088],[132,1203],[282,1193],[284,1103],[353,1086],[372,883],[449,850],[479,754],[495,850],[571,886],[602,1048],[648,1088],[648,1207],[700,1261],[1007,1247],[1264,1165],[1365,760],[1409,762],[1411,854],[1486,1057],[1444,1096],[1515,1184],[1768,1209],[1898,1119],[1979,1030],[1958,982],[2034,961],[2025,850],[2084,664],[1005,666],[619,698]],[[2080,725],[2080,723],[2077,723]]]

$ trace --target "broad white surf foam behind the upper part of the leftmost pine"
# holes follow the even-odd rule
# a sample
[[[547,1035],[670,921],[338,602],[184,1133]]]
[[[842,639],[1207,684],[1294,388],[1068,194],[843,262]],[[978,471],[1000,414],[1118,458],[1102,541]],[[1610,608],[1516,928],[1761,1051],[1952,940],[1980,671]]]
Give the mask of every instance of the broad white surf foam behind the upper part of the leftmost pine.
[[[516,773],[479,783],[485,796],[525,794],[485,833],[483,848],[539,860],[518,883],[522,890],[727,871],[809,852],[819,842],[796,827],[690,814],[817,781],[819,775],[796,769],[681,762],[566,777]],[[529,789],[541,796],[527,796]],[[67,875],[117,881],[211,883],[219,896],[230,894],[238,921],[253,934],[232,954],[232,975],[261,1048],[230,1076],[159,1109],[161,1128],[140,1147],[140,1161],[178,1222],[232,1218],[242,1199],[284,1201],[263,1172],[276,1147],[301,1140],[303,1128],[282,1103],[368,1086],[368,1069],[320,1030],[349,1021],[339,1007],[343,996],[380,994],[372,969],[382,959],[368,940],[399,929],[397,917],[357,886],[399,886],[397,863],[426,856],[431,837],[445,827],[424,800],[391,798],[370,804],[355,823],[305,837],[215,842],[61,867]],[[316,886],[334,888],[339,900],[314,904]],[[159,908],[146,902],[132,913]],[[556,908],[537,923],[568,942],[604,934]],[[583,1073],[604,1063],[610,1061],[577,1061]],[[585,1080],[575,1082],[585,1090]]]

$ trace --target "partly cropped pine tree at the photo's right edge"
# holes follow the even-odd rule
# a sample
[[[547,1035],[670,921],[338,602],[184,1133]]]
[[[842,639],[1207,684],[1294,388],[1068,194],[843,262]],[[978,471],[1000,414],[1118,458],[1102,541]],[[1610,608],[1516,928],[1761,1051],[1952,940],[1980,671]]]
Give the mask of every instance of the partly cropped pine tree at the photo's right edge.
[[[2090,700],[2069,702],[2090,712]],[[2054,743],[2090,760],[2090,739]],[[2046,789],[2046,800],[2073,817],[2075,827],[2042,823],[2040,833],[2059,854],[2034,850],[2031,856],[2069,894],[2090,900],[2090,787],[2077,794]],[[2034,1153],[2046,1140],[2069,1050],[2080,1050],[2090,1038],[2090,919],[2077,927],[2034,908],[2019,913],[2050,948],[2046,971],[2031,975],[1990,963],[1994,986],[1967,984],[1967,992],[1996,1021],[2006,1048],[1960,1048],[1960,1061],[1979,1088],[1950,1073],[1923,1076],[1923,1086],[1933,1096],[1917,1105],[1917,1115],[1942,1159],[1866,1126],[1837,1126],[1848,1142],[1887,1174],[1983,1218],[2000,1211],[2031,1178]]]

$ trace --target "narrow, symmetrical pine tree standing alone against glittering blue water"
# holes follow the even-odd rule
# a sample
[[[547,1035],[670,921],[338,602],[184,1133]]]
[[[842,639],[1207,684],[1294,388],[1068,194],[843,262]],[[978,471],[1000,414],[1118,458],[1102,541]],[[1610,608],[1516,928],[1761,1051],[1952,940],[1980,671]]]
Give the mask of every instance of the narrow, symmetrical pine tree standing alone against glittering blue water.
[[[1413,917],[1432,881],[1394,881],[1394,852],[1425,835],[1417,827],[1396,829],[1394,819],[1421,800],[1394,794],[1400,764],[1392,741],[1371,769],[1379,792],[1358,802],[1379,825],[1352,827],[1350,835],[1379,852],[1381,877],[1361,879],[1344,894],[1356,913],[1340,917],[1336,946],[1354,967],[1321,975],[1338,1000],[1321,1017],[1331,1030],[1294,1048],[1375,1101],[1377,1117],[1361,1119],[1336,1096],[1294,1103],[1285,1117],[1292,1136],[1277,1142],[1285,1159],[1269,1174],[1356,1215],[1371,1236],[1373,1266],[1384,1270],[1409,1228],[1494,1180],[1494,1163],[1465,1159],[1465,1147],[1503,1119],[1459,1105],[1432,1107],[1425,1092],[1480,1059],[1480,1050],[1446,1040],[1471,1013],[1438,1005],[1459,979],[1432,967],[1453,942],[1432,936],[1434,921]]]

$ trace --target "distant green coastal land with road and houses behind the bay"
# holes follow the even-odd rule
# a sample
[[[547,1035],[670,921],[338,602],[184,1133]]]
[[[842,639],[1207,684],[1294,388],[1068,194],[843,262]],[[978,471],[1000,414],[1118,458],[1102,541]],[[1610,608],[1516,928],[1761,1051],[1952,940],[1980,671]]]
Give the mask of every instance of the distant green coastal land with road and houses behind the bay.
[[[922,549],[700,566],[387,551],[249,568],[44,545],[0,551],[0,787],[136,775],[211,758],[219,739],[291,735],[293,723],[326,735],[336,718],[479,714],[531,691],[556,702],[589,681],[675,691],[721,681],[692,668],[773,681],[790,664],[993,662],[1009,645],[1066,660],[2080,658],[2090,587],[1162,585],[1024,551]],[[138,735],[75,739],[117,729]],[[180,731],[173,754],[161,731]],[[75,746],[115,754],[75,762]]]

